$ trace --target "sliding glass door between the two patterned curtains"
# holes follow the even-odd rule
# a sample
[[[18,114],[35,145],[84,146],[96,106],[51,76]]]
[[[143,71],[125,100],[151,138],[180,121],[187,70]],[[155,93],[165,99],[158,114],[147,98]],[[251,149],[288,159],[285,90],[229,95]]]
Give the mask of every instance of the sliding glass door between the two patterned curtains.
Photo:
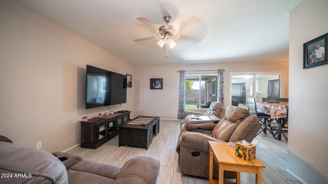
[[[186,74],[186,109],[217,101],[217,74]]]

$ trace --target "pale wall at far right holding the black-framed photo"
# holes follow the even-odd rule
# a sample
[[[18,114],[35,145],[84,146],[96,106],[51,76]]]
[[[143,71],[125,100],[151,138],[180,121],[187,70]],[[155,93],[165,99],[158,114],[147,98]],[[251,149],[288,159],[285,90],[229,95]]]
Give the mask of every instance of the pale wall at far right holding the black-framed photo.
[[[306,183],[328,183],[328,64],[302,64],[303,43],[328,32],[327,8],[305,0],[290,12],[288,170]]]

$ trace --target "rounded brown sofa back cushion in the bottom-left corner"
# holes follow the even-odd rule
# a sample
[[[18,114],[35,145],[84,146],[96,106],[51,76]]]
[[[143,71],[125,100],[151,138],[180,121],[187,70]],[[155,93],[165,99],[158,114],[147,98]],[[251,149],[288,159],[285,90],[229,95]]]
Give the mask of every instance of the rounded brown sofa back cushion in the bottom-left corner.
[[[67,171],[54,155],[35,148],[0,142],[1,183],[67,183]]]

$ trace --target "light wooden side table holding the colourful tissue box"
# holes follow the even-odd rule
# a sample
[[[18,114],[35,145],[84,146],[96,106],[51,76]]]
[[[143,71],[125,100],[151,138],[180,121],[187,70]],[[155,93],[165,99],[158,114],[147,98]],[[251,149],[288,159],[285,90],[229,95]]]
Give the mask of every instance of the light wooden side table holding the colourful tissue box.
[[[226,142],[209,141],[210,143],[210,176],[209,183],[229,183],[223,182],[223,171],[237,172],[236,183],[240,183],[240,172],[256,174],[256,183],[262,183],[262,168],[265,165],[259,159],[246,162],[235,156],[235,147],[228,146]],[[213,158],[219,167],[219,180],[213,179]],[[231,183],[231,182],[230,182]]]

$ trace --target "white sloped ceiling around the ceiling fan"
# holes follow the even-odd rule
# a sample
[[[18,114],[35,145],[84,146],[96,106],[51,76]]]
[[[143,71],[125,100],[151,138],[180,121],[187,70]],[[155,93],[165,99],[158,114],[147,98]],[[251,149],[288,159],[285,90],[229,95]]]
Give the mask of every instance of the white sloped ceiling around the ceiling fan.
[[[289,10],[302,0],[17,0],[132,65],[289,60]],[[168,53],[155,31],[181,34]]]

